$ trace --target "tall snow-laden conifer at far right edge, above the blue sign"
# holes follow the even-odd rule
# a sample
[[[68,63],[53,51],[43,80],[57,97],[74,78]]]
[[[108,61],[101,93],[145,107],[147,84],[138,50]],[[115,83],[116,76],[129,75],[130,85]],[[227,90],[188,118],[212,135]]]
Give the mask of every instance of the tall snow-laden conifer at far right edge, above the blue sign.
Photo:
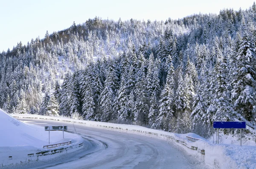
[[[244,36],[237,53],[237,69],[233,81],[234,110],[246,120],[256,120],[256,55],[248,35]]]

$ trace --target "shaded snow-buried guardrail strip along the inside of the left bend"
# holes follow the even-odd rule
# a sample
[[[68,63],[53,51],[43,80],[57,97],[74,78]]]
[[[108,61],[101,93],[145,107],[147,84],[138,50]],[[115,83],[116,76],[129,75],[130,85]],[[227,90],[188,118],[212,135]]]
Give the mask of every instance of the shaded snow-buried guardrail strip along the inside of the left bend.
[[[76,142],[55,148],[39,149],[33,146],[1,147],[0,168],[55,158],[65,153],[75,152],[83,146],[84,140],[81,137],[77,137]]]

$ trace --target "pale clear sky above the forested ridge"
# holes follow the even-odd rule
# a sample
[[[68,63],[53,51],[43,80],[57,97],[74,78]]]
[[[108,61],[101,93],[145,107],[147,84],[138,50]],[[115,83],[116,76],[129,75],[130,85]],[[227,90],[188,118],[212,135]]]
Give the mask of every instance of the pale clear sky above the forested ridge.
[[[254,0],[0,0],[0,51],[12,50],[44,38],[46,31],[61,31],[73,21],[84,23],[95,16],[117,21],[166,20],[191,14],[216,13],[221,9],[249,8]]]

